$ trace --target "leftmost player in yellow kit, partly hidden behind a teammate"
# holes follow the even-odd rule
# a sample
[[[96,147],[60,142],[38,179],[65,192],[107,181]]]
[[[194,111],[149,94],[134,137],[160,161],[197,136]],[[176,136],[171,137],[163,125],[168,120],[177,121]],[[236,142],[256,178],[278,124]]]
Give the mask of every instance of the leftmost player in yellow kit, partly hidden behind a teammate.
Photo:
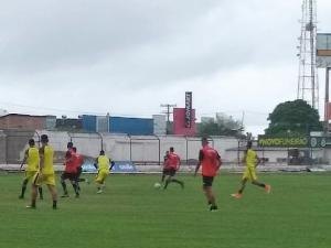
[[[21,195],[19,196],[19,198],[24,198],[26,185],[29,181],[33,179],[34,174],[39,169],[39,150],[38,148],[35,148],[34,139],[29,140],[29,148],[24,152],[24,159],[21,163],[20,170],[22,170],[22,166],[25,162],[26,162],[25,176],[22,183]],[[39,195],[40,198],[42,200],[43,198],[42,187],[39,187]]]

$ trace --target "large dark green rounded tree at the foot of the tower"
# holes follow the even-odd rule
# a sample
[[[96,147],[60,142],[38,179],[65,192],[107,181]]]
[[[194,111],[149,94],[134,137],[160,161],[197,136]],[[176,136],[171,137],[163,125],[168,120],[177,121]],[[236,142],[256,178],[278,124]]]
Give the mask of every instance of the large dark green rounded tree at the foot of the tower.
[[[323,129],[318,110],[301,99],[279,104],[268,120],[265,133],[271,136],[307,136]]]

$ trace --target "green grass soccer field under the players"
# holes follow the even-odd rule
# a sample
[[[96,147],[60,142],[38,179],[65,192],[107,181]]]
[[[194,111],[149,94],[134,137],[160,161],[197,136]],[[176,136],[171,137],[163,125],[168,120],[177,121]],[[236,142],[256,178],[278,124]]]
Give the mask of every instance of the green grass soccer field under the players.
[[[93,179],[93,175],[89,175]],[[179,175],[185,188],[153,188],[159,175],[110,175],[104,194],[82,183],[81,198],[49,192],[36,209],[19,200],[22,174],[0,174],[0,248],[330,248],[331,174],[260,174],[270,194],[247,185],[231,198],[239,174],[215,180],[218,212],[209,212],[200,176]],[[58,180],[58,176],[57,176]],[[62,194],[57,181],[58,194]]]

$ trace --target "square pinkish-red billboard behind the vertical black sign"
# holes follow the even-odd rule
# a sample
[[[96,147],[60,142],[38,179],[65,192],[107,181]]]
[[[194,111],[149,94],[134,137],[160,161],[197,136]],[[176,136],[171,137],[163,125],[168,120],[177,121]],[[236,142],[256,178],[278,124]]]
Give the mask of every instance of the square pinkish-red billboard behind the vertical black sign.
[[[195,109],[191,109],[191,121],[188,127],[188,112],[186,108],[173,108],[173,134],[178,136],[195,136]]]

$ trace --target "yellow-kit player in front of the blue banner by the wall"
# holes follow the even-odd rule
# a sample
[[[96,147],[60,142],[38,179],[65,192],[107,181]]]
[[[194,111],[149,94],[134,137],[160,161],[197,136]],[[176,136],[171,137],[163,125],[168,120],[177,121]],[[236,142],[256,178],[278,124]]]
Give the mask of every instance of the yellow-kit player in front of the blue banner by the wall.
[[[109,171],[111,170],[114,163],[111,163],[111,160],[105,155],[105,151],[102,150],[99,157],[96,159],[96,163],[94,164],[96,169],[98,170],[98,173],[96,175],[95,182],[97,184],[97,194],[103,193],[103,190],[105,187],[105,180],[109,174]]]

